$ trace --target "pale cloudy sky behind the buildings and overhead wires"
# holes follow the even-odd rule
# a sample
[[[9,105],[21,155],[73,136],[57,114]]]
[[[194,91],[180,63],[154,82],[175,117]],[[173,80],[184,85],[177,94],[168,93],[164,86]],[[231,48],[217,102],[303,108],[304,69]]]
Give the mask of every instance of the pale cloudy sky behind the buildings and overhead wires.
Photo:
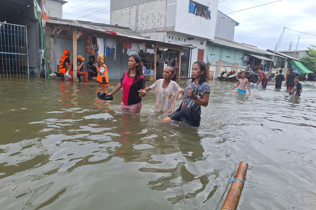
[[[218,10],[227,14],[277,0],[219,1]],[[284,27],[316,35],[315,9],[315,0],[282,0],[227,15],[240,24],[235,26],[234,41],[274,50]],[[110,0],[68,0],[63,7],[63,17],[109,24]],[[316,36],[289,29],[285,29],[279,50],[287,50],[291,41],[295,50],[299,36],[298,49],[316,45]]]

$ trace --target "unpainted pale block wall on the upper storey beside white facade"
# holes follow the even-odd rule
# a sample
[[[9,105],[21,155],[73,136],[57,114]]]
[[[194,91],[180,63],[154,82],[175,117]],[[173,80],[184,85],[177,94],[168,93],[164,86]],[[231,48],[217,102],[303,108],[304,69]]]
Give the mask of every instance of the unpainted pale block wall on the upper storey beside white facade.
[[[137,14],[138,16],[136,16]],[[132,30],[162,28],[165,27],[165,23],[166,0],[144,3],[111,12],[111,24],[129,27]]]

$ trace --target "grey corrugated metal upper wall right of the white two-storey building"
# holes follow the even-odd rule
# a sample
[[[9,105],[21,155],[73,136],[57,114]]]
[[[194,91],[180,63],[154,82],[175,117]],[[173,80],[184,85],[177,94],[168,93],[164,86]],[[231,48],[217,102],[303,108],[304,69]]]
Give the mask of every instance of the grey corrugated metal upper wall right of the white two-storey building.
[[[222,12],[217,11],[215,37],[233,41],[234,30],[235,21]]]

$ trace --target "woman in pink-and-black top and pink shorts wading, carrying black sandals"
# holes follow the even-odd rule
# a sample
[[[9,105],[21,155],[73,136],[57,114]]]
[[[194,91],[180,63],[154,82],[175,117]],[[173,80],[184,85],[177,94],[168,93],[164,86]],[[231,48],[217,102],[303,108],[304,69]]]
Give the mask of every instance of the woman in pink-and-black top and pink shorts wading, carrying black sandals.
[[[123,99],[119,105],[120,109],[140,113],[142,108],[142,97],[138,90],[145,88],[143,77],[142,60],[137,54],[133,54],[128,59],[129,70],[125,71],[119,84],[107,95],[114,95],[123,87]]]

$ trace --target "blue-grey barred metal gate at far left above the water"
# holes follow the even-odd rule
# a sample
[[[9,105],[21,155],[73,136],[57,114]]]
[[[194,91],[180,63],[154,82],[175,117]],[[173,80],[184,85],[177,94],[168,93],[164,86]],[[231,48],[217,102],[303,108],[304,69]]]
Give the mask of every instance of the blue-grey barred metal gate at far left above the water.
[[[26,26],[0,22],[0,77],[28,75]]]

